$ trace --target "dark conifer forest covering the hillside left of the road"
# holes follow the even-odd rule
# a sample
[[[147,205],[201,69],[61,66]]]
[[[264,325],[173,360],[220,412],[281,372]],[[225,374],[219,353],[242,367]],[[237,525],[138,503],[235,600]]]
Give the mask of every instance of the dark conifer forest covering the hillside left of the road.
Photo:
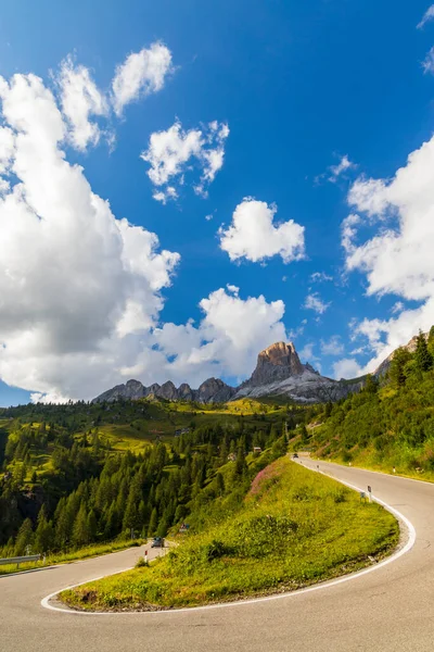
[[[237,488],[242,494],[256,468],[246,462],[253,448],[272,450],[265,464],[283,454],[285,443],[283,424],[257,430],[240,422],[194,428],[138,455],[107,450],[97,430],[77,437],[54,423],[18,426],[4,450],[12,471],[0,480],[2,554],[165,536],[197,501],[210,503]],[[38,457],[48,450],[49,467],[39,473]]]

